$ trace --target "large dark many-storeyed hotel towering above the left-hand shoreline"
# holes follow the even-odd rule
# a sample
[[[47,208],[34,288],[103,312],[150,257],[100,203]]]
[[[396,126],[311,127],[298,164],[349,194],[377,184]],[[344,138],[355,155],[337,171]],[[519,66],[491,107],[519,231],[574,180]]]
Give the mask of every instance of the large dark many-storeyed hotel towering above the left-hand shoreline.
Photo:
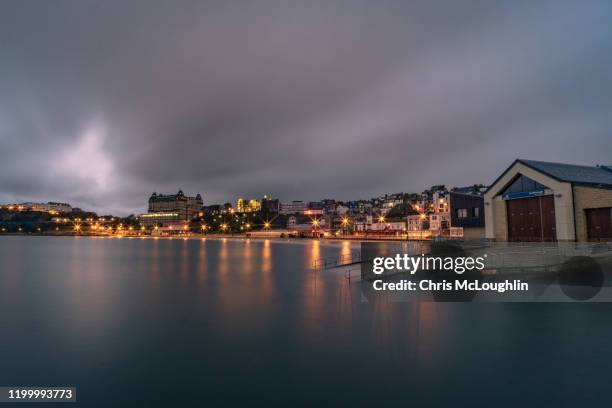
[[[204,202],[202,196],[186,196],[182,190],[176,194],[153,193],[149,198],[148,212],[138,216],[140,224],[145,227],[171,227],[187,225],[196,217]]]

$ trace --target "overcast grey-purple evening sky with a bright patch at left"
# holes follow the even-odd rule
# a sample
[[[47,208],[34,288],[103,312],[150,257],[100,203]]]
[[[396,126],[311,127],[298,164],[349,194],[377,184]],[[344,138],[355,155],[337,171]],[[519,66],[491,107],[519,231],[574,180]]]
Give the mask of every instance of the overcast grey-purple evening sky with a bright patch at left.
[[[3,0],[0,203],[370,198],[612,164],[609,1]]]

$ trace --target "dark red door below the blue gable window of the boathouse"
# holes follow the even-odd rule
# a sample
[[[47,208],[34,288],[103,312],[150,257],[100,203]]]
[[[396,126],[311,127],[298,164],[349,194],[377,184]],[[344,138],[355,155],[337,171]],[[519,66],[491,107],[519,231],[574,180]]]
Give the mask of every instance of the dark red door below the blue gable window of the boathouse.
[[[556,241],[555,200],[552,195],[507,201],[508,240]]]

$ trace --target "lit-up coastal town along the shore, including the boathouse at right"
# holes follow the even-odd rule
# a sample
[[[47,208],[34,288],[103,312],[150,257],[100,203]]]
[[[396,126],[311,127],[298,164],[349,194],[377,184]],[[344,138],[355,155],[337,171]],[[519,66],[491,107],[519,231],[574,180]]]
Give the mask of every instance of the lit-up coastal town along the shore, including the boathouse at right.
[[[200,193],[154,192],[146,212],[118,217],[62,202],[0,206],[0,234],[244,236],[329,239],[612,239],[612,167],[517,159],[490,185],[340,201],[264,195],[205,205]]]

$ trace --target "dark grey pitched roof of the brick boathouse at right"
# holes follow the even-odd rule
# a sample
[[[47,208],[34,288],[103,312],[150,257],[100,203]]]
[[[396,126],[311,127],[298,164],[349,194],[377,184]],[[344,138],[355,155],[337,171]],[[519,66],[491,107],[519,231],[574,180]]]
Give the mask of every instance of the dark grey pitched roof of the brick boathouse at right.
[[[612,169],[606,166],[579,166],[525,159],[518,159],[517,161],[559,181],[612,185]]]

